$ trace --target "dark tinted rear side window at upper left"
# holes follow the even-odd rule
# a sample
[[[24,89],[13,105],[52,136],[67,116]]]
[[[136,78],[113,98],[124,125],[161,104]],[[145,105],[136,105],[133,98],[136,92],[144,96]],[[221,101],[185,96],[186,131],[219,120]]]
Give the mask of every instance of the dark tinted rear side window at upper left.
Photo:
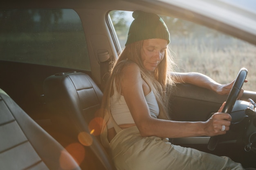
[[[79,15],[72,9],[0,11],[0,60],[91,70]]]

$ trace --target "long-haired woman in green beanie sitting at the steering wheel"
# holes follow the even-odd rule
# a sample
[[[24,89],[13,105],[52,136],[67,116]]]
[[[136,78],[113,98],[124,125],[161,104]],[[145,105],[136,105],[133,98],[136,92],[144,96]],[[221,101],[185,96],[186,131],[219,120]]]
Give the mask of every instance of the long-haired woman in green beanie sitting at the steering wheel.
[[[168,138],[225,134],[231,124],[226,113],[207,121],[171,121],[168,91],[175,83],[190,83],[228,94],[233,82],[218,84],[199,73],[168,72],[168,29],[153,13],[135,11],[126,47],[112,68],[101,110],[101,139],[111,150],[118,170],[236,169],[240,163],[191,148],[175,146]],[[172,63],[172,62],[171,62]],[[172,63],[173,64],[173,63]]]

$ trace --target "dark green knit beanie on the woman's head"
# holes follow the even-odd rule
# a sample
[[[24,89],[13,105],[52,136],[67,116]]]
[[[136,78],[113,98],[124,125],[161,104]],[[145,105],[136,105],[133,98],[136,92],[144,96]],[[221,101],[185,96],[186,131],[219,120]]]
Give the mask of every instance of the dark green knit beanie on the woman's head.
[[[143,11],[134,11],[132,13],[134,20],[128,31],[128,38],[125,45],[140,40],[160,38],[170,42],[170,34],[166,24],[158,15],[146,13]]]

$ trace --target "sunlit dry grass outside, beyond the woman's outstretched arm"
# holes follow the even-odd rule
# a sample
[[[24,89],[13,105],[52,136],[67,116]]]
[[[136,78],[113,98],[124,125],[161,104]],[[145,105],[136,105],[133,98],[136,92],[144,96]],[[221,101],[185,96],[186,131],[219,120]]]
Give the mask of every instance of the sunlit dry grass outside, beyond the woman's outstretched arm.
[[[237,39],[218,37],[209,40],[186,38],[181,43],[173,40],[170,48],[178,65],[176,71],[203,73],[226,84],[236,78],[240,68],[245,67],[249,82],[243,88],[256,91],[256,46]]]

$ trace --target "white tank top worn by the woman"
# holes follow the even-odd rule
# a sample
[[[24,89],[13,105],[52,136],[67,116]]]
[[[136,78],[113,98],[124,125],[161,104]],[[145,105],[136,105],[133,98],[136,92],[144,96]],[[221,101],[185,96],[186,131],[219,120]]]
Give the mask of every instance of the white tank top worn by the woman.
[[[126,104],[123,95],[118,94],[115,80],[113,83],[114,94],[110,97],[110,111],[113,119],[116,121],[117,125],[121,124],[134,124],[134,120],[130,113],[130,110]],[[146,102],[148,104],[150,115],[153,118],[157,118],[159,115],[159,107],[157,100],[153,91],[150,91],[148,95],[145,96]],[[113,127],[111,121],[108,121],[108,129]]]

